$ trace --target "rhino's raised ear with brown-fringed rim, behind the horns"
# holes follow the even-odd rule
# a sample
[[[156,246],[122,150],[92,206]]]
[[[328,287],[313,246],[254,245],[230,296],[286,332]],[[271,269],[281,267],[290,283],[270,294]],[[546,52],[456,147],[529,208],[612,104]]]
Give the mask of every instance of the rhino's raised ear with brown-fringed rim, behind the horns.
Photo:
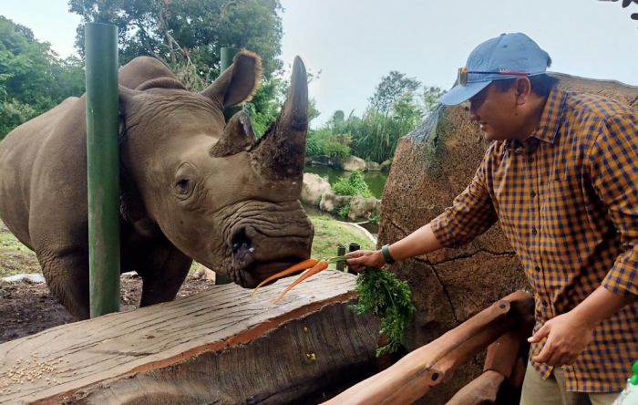
[[[221,107],[230,107],[250,101],[261,79],[262,58],[243,49],[232,59],[232,65],[201,94],[219,102]]]

